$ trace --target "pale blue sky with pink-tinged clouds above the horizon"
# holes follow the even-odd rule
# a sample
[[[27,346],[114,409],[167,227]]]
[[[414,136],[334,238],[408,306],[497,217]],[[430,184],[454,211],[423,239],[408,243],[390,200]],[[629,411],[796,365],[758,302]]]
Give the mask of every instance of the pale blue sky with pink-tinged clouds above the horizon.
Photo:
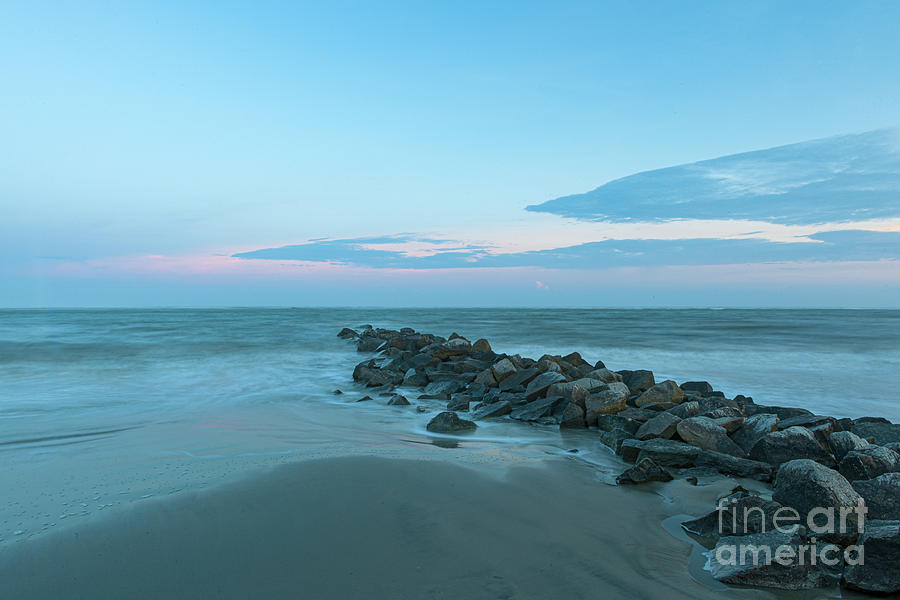
[[[897,23],[4,2],[0,306],[900,307]]]

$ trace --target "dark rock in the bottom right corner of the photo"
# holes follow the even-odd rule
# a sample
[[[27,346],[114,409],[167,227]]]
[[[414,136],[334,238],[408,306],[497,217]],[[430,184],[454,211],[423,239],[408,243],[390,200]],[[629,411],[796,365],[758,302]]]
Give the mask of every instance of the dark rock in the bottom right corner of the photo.
[[[868,527],[858,545],[865,548],[864,560],[844,567],[843,584],[875,594],[900,592],[900,521]]]

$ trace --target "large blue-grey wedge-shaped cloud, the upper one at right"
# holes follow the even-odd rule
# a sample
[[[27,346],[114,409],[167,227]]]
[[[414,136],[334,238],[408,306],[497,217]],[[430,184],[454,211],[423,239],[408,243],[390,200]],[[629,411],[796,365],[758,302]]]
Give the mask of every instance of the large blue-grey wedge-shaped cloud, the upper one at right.
[[[900,130],[836,136],[645,171],[527,210],[604,221],[809,224],[900,215]]]

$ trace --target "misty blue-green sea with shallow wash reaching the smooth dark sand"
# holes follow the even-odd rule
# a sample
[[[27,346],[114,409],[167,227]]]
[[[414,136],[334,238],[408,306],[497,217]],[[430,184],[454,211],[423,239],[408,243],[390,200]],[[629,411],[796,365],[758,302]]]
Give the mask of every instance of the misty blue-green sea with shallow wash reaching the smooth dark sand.
[[[4,310],[0,544],[268,465],[433,443],[424,425],[439,403],[355,402],[366,355],[336,334],[366,323],[534,358],[576,350],[760,404],[900,421],[898,310]],[[463,444],[485,461],[578,444],[602,465],[589,434],[499,420]]]

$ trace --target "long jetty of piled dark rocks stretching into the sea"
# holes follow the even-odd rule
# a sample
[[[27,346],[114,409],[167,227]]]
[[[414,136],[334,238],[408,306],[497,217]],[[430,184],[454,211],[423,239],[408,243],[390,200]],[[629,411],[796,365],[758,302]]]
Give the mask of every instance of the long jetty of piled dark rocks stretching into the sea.
[[[483,419],[588,429],[632,463],[623,465],[622,485],[695,483],[697,473],[770,484],[771,493],[738,487],[713,512],[683,524],[710,549],[708,569],[720,581],[900,592],[900,424],[729,398],[705,381],[612,371],[578,352],[532,359],[456,333],[369,325],[338,336],[374,354],[353,370],[367,388],[361,400],[380,395],[406,406],[395,391],[403,386],[447,404],[429,431],[465,435]],[[841,526],[828,522],[841,514]],[[746,547],[755,549],[753,560],[731,560]]]

